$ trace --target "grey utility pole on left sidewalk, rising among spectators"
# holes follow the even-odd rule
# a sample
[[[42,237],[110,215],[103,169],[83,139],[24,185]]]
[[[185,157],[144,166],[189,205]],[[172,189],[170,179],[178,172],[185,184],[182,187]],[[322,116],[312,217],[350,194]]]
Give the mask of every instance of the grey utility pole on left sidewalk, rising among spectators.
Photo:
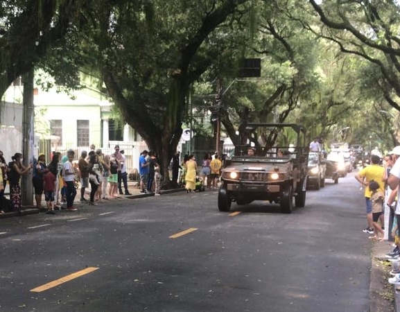
[[[24,83],[24,98],[22,105],[24,106],[24,116],[22,116],[22,157],[24,158],[24,166],[29,166],[33,160],[33,139],[34,139],[34,116],[35,107],[33,105],[33,78],[34,71],[28,71],[22,76]],[[21,176],[21,200],[22,205],[33,205],[33,184],[32,170]]]

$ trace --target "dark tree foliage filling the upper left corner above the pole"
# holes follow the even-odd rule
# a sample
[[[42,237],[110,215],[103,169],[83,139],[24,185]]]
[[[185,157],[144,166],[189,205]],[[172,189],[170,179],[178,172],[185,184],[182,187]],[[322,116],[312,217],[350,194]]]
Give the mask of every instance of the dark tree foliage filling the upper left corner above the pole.
[[[62,44],[71,23],[82,23],[80,0],[0,1],[0,94],[33,69],[51,46]]]

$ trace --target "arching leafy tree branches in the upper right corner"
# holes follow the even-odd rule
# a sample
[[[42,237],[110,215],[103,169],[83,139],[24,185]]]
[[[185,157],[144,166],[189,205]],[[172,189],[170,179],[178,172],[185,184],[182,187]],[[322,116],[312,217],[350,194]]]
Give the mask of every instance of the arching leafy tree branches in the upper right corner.
[[[381,79],[376,80],[381,93],[392,107],[400,110],[397,98],[400,95],[399,3],[325,0],[318,5],[315,0],[309,2],[327,27],[307,24],[307,28],[336,42],[343,53],[358,55],[374,64],[381,73]]]

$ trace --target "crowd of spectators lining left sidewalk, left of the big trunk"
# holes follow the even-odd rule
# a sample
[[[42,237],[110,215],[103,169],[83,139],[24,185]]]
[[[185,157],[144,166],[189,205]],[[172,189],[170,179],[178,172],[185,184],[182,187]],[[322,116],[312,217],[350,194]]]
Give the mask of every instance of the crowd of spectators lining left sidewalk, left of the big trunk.
[[[144,150],[144,165],[139,168],[141,173],[141,190],[146,181],[146,192],[159,195],[159,165],[155,153]],[[148,157],[148,158],[147,158]],[[21,153],[15,153],[11,162],[6,162],[0,151],[0,214],[5,213],[1,207],[4,201],[4,191],[7,182],[10,189],[10,211],[20,212],[21,186],[20,177],[29,171],[32,173],[32,183],[35,193],[35,206],[42,209],[42,197],[46,201],[47,214],[55,214],[55,209],[76,211],[73,205],[80,183],[80,202],[97,205],[97,202],[119,198],[121,195],[131,195],[128,190],[128,173],[125,166],[124,151],[119,146],[114,147],[114,153],[103,155],[101,149],[90,146],[89,153],[83,150],[75,161],[74,150],[67,150],[66,155],[53,152],[51,161],[46,163],[44,153],[28,166],[24,166]],[[142,159],[139,159],[139,163]],[[89,193],[89,196],[87,196]],[[89,197],[89,198],[87,198]]]

